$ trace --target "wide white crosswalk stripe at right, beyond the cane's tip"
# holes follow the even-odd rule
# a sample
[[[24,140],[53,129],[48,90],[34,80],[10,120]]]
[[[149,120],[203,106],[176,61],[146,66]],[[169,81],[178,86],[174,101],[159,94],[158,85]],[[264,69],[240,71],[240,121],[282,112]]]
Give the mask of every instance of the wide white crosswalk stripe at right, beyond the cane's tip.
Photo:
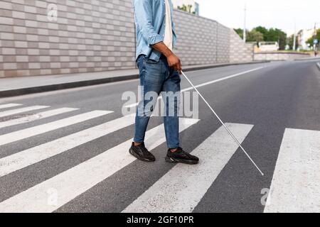
[[[265,213],[320,212],[320,131],[287,128]]]

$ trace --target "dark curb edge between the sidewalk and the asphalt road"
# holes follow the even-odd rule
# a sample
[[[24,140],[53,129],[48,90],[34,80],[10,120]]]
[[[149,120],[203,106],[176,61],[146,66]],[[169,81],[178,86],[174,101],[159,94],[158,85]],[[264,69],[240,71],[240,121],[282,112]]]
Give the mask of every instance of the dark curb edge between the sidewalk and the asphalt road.
[[[190,72],[194,70],[206,70],[210,68],[216,68],[216,67],[227,67],[232,65],[251,65],[251,64],[258,64],[258,63],[267,63],[270,61],[257,61],[257,62],[238,62],[238,63],[225,63],[221,65],[203,65],[203,66],[194,66],[194,67],[187,67],[185,72]],[[41,92],[52,92],[56,90],[62,90],[62,89],[70,89],[75,87],[87,87],[92,85],[98,85],[98,84],[108,84],[112,82],[122,82],[130,79],[138,79],[139,74],[131,74],[121,77],[109,77],[109,78],[103,78],[103,79],[90,79],[90,80],[84,80],[84,81],[78,81],[78,82],[68,82],[63,84],[50,84],[50,85],[44,85],[39,87],[26,87],[22,89],[11,89],[11,90],[5,90],[0,91],[0,97],[11,97],[11,96],[20,96],[24,94],[34,94],[34,93],[41,93]]]

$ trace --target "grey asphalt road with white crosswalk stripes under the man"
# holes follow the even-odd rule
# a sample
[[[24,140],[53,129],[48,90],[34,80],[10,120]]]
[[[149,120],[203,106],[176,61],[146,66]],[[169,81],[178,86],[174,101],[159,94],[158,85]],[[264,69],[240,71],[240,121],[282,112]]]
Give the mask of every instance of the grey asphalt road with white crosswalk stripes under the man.
[[[277,170],[276,164],[279,150],[284,143],[286,128],[314,131],[315,133],[320,131],[320,71],[316,67],[316,62],[297,61],[238,65],[188,72],[188,76],[194,84],[212,82],[232,75],[235,77],[207,84],[198,89],[225,122],[237,124],[235,131],[239,129],[240,137],[243,134],[242,146],[265,173],[264,177],[257,172],[240,149],[233,148],[234,144],[228,140],[227,135],[221,137],[221,143],[219,140],[214,140],[214,137],[218,135],[213,133],[218,131],[220,123],[212,116],[202,101],[199,104],[200,121],[192,123],[181,132],[181,145],[190,152],[202,145],[202,150],[200,150],[203,153],[201,156],[203,159],[218,154],[218,150],[224,154],[224,149],[228,150],[230,157],[216,155],[213,156],[215,158],[210,160],[210,163],[203,162],[198,167],[191,167],[192,169],[164,162],[166,144],[162,140],[159,140],[159,145],[156,145],[152,150],[157,159],[154,163],[138,160],[128,161],[125,155],[116,162],[117,152],[120,156],[122,153],[127,154],[127,148],[130,144],[127,144],[124,151],[123,149],[112,150],[112,148],[123,148],[121,144],[132,138],[134,126],[131,123],[119,128],[119,130],[111,131],[107,135],[88,140],[86,143],[81,143],[70,149],[63,149],[68,145],[66,143],[55,142],[47,150],[46,146],[41,147],[50,141],[59,140],[59,138],[68,137],[68,135],[85,129],[122,118],[121,110],[124,104],[121,99],[122,94],[127,91],[137,93],[138,80],[116,82],[0,99],[0,108],[4,104],[22,104],[21,106],[0,109],[0,212],[121,212],[128,207],[131,207],[129,211],[134,211],[133,208],[144,201],[142,195],[149,198],[148,196],[152,193],[159,193],[159,195],[150,197],[149,202],[146,202],[149,205],[145,206],[142,211],[151,211],[149,206],[156,210],[159,208],[161,211],[175,211],[172,209],[175,206],[181,208],[177,211],[185,211],[183,208],[188,207],[188,211],[193,212],[263,212],[265,206],[261,201],[264,199],[264,190],[270,189],[271,184],[274,184],[274,189],[277,191],[279,183],[276,180],[279,182],[279,179],[288,176],[285,173],[286,166],[280,165],[280,163],[277,173],[279,175],[276,175],[279,177],[274,177],[274,172],[277,172],[275,171]],[[181,87],[187,88],[190,85],[185,79],[182,79]],[[3,113],[6,115],[5,111],[39,105],[50,107],[1,117]],[[36,121],[1,127],[1,122],[12,121],[14,118],[31,117],[30,114],[60,108],[77,110],[40,118]],[[96,110],[113,112],[111,114],[103,112],[105,114],[102,116],[79,121],[69,126],[63,126],[65,122],[48,124]],[[160,124],[161,118],[154,117],[151,119],[149,129]],[[243,127],[252,126],[252,128],[247,133],[243,133],[243,127],[239,124],[242,124]],[[43,127],[28,130],[28,128],[36,126]],[[213,135],[213,140],[207,140],[210,135]],[[160,136],[160,134],[155,136]],[[203,145],[205,140],[209,142]],[[289,142],[291,140],[294,138],[287,139]],[[76,139],[66,141],[67,143],[77,142]],[[210,143],[210,141],[215,141],[215,143]],[[32,153],[34,148],[39,146],[40,152]],[[319,142],[316,140],[303,146],[304,149],[309,147],[320,149]],[[61,148],[62,151],[50,155],[50,149],[53,148],[55,150]],[[106,172],[102,174],[101,171],[97,171],[97,174],[90,176],[91,171],[100,170],[98,163],[102,160],[99,160],[100,156],[98,155],[104,154],[106,150],[110,150],[110,153],[101,156],[105,157],[103,161],[107,164],[105,165]],[[28,151],[32,154],[29,154]],[[310,153],[309,159],[319,163],[319,150],[313,151],[314,153]],[[48,153],[49,155],[45,158],[40,157]],[[10,159],[17,154],[25,156],[16,160]],[[221,159],[219,159],[220,156]],[[108,162],[109,157],[114,161]],[[299,157],[299,155],[295,158],[295,160],[299,158],[308,160],[308,157]],[[24,159],[38,161],[31,161],[27,165],[14,169],[13,166],[16,163],[18,163],[16,166],[19,166],[21,160]],[[91,159],[94,159],[95,162],[91,163]],[[287,162],[289,162],[288,160]],[[306,163],[309,163],[309,169],[301,174],[305,175],[308,174],[308,171],[319,170],[319,167],[313,165],[314,162],[311,160],[308,162],[302,160],[300,166],[294,167],[295,171],[297,170],[296,173],[299,175],[301,172],[298,170],[305,170]],[[110,165],[114,171],[110,169]],[[288,164],[288,166],[290,165]],[[201,169],[201,167],[203,168]],[[70,172],[70,170],[86,171],[77,175],[77,171]],[[203,176],[206,175],[207,178],[194,177],[193,184],[188,182],[189,177],[192,179],[192,176],[200,171],[203,171]],[[173,175],[172,172],[177,172],[178,176]],[[213,175],[216,176],[213,177]],[[174,177],[175,185],[174,183],[170,185],[170,176]],[[274,183],[272,177],[275,178]],[[319,177],[319,174],[316,177]],[[177,183],[179,179],[184,181],[180,180],[180,183]],[[319,179],[311,183],[319,185]],[[293,180],[292,185],[285,187],[291,186],[290,188],[300,189],[304,192],[309,189],[308,185],[311,184],[307,181],[299,183],[296,185]],[[154,185],[159,185],[159,187]],[[180,192],[179,187],[185,187],[186,190]],[[178,189],[174,190],[175,188]],[[161,192],[161,190],[169,190],[169,193],[167,191],[166,193]],[[314,199],[316,197],[313,196],[316,196],[318,191],[319,188],[314,195],[292,195],[292,198],[298,199],[297,201],[301,196],[309,196],[308,199]],[[287,193],[294,192],[293,190]],[[277,192],[275,193],[277,194]],[[283,194],[286,192],[281,192],[274,197],[276,200],[279,199],[280,204],[282,199],[286,199]],[[188,201],[189,196],[191,201]],[[304,211],[320,210],[319,197],[313,201],[314,207]],[[287,209],[290,209],[291,206],[297,206],[294,199]],[[302,206],[302,209],[306,208],[304,204],[299,204],[299,206]],[[288,211],[278,205],[274,205],[271,210]]]

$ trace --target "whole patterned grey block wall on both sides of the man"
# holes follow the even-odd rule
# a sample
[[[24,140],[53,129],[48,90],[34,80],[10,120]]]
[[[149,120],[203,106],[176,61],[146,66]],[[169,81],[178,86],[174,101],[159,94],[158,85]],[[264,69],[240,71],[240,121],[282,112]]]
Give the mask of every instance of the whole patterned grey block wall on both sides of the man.
[[[134,68],[133,17],[132,0],[1,0],[0,77]],[[230,28],[182,11],[174,18],[183,65],[246,59]]]

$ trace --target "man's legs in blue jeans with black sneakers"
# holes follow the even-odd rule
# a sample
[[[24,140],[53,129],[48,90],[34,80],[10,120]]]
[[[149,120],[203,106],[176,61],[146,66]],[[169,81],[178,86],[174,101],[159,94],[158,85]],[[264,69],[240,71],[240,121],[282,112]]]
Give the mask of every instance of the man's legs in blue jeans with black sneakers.
[[[159,93],[164,92],[164,102],[166,104],[164,129],[169,147],[166,162],[197,164],[198,157],[186,153],[180,148],[179,143],[178,96],[180,96],[180,75],[175,70],[169,69],[166,60],[163,58],[159,62],[154,62],[144,57],[139,57],[138,66],[144,99],[140,101],[138,106],[134,132],[135,143],[132,144],[129,153],[146,162],[154,162],[156,160],[154,155],[145,148],[144,136]],[[151,95],[149,95],[149,92],[151,92]],[[149,99],[151,96],[152,98]]]

